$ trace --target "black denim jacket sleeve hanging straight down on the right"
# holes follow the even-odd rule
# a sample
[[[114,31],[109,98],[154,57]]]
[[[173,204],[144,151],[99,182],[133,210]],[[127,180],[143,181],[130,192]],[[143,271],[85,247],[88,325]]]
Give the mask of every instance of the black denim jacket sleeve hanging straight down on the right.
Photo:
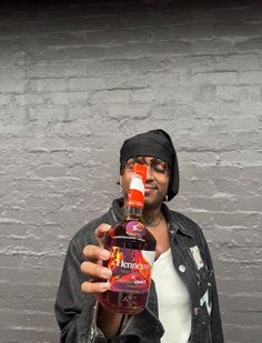
[[[203,248],[203,254],[205,258],[205,261],[208,263],[208,268],[211,271],[211,283],[212,283],[212,311],[211,311],[211,335],[212,335],[212,342],[213,343],[223,343],[223,329],[222,329],[222,322],[221,322],[221,315],[220,315],[220,306],[219,306],[219,295],[218,295],[218,289],[216,289],[216,282],[215,276],[213,272],[213,263],[211,259],[211,254],[209,251],[208,243],[205,241],[205,238],[202,233],[202,230],[200,229],[200,239]]]

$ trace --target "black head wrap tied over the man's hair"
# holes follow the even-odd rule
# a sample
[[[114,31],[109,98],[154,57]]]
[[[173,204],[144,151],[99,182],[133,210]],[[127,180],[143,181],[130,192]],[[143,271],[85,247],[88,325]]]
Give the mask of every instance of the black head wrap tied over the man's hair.
[[[179,163],[170,135],[163,130],[152,130],[137,134],[123,142],[120,150],[120,164],[133,157],[148,155],[161,159],[170,168],[168,201],[179,192]]]

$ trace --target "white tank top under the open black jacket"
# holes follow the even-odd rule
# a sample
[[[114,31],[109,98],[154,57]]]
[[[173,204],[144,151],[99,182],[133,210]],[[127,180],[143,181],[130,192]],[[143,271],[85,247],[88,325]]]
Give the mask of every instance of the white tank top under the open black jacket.
[[[171,249],[162,253],[153,264],[159,317],[164,326],[161,343],[188,343],[191,333],[191,304],[189,292],[178,275]]]

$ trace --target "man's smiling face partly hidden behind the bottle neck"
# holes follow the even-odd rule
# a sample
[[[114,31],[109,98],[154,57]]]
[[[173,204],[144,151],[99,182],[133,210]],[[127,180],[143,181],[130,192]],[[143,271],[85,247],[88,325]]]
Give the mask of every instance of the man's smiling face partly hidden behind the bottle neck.
[[[147,164],[148,172],[145,179],[144,210],[157,209],[161,205],[169,189],[168,164],[153,157],[135,157],[125,162],[120,184],[123,195],[127,199],[134,163]]]

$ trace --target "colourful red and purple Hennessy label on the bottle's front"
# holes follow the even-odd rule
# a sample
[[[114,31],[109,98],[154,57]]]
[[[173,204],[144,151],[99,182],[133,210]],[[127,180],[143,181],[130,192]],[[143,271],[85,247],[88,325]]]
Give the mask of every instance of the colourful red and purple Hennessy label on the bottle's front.
[[[148,292],[154,255],[154,251],[113,246],[108,264],[108,268],[112,270],[109,290],[132,293]]]

